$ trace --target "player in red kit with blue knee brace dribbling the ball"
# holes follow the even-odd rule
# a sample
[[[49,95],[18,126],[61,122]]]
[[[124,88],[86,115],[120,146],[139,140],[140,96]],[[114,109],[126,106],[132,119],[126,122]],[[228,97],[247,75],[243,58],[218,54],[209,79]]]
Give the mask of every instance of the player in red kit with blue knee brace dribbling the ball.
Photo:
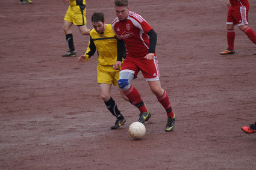
[[[139,122],[144,123],[151,117],[151,113],[144,105],[139,92],[131,85],[131,80],[137,77],[139,71],[149,83],[151,91],[158,101],[166,109],[166,131],[172,131],[175,125],[175,114],[172,111],[169,97],[161,88],[160,74],[158,70],[155,46],[157,34],[146,20],[139,14],[129,11],[128,0],[115,0],[116,19],[112,22],[112,28],[117,37],[117,57],[122,56],[126,47],[126,59],[119,73],[118,84],[130,102],[140,110]],[[113,65],[115,69],[121,66],[120,60]]]

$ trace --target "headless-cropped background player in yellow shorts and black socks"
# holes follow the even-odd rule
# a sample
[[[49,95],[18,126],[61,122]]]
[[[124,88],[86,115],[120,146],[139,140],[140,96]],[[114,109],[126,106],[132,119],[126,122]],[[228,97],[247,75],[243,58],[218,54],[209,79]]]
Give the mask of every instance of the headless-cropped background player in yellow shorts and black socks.
[[[76,56],[75,46],[73,44],[73,35],[71,26],[77,25],[81,34],[89,35],[90,29],[86,26],[86,0],[62,0],[63,2],[69,1],[69,8],[64,17],[64,33],[66,35],[69,50],[62,56]]]

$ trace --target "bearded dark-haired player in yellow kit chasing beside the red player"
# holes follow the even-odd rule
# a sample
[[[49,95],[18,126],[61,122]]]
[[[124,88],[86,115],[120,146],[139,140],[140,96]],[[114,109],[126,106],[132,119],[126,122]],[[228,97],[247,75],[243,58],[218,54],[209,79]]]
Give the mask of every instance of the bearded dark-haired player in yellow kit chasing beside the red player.
[[[116,35],[110,24],[105,24],[103,13],[93,13],[92,15],[93,29],[90,31],[89,46],[84,55],[78,58],[78,62],[88,61],[89,58],[98,52],[98,83],[99,90],[101,91],[101,98],[105,102],[107,109],[113,114],[117,120],[111,129],[118,129],[126,120],[125,117],[117,109],[116,102],[111,97],[111,85],[118,85],[119,70],[114,70],[113,65],[116,61],[122,61],[122,55],[117,58],[117,40]],[[125,49],[119,50],[123,53]],[[128,98],[123,94],[122,90],[119,91],[123,99]]]

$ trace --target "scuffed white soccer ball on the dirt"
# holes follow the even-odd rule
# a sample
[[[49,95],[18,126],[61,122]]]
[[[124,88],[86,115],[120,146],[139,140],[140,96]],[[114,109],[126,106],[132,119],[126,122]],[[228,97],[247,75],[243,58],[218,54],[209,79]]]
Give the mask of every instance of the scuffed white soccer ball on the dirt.
[[[146,134],[146,127],[144,124],[136,121],[129,126],[129,135],[134,139],[140,139]]]

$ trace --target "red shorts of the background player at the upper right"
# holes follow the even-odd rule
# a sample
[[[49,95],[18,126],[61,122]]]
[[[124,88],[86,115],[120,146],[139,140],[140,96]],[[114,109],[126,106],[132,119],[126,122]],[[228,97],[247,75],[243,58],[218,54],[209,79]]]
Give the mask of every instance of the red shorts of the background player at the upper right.
[[[228,10],[228,17],[226,20],[226,24],[228,25],[248,25],[248,7],[230,7]]]

